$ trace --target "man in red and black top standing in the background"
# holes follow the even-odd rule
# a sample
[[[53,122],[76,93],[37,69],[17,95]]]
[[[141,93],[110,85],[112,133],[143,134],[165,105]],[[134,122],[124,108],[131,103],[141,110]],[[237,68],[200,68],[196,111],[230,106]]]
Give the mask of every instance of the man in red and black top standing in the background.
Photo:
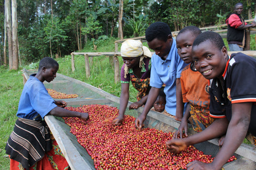
[[[241,16],[243,4],[237,3],[234,7],[234,13],[228,15],[226,23],[228,25],[227,41],[230,51],[242,51],[245,47],[246,31],[253,28],[256,23],[247,24]]]

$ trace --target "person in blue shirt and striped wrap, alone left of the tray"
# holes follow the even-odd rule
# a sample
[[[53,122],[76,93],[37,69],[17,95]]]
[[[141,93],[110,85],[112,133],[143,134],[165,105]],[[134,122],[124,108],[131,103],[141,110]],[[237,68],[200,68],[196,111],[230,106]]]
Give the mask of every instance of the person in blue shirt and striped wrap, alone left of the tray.
[[[43,120],[46,115],[89,118],[88,113],[69,111],[67,103],[53,100],[43,82],[51,82],[59,64],[51,57],[39,62],[37,74],[31,74],[25,83],[19,101],[18,120],[5,150],[10,155],[10,169],[68,169],[68,163]]]

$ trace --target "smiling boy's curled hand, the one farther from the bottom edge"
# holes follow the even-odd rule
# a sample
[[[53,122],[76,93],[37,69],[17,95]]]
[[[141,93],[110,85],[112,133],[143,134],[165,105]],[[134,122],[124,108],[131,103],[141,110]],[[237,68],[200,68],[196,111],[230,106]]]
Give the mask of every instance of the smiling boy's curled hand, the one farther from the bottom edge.
[[[167,150],[169,150],[174,154],[177,154],[188,147],[186,142],[183,139],[172,139],[165,143],[166,143]]]

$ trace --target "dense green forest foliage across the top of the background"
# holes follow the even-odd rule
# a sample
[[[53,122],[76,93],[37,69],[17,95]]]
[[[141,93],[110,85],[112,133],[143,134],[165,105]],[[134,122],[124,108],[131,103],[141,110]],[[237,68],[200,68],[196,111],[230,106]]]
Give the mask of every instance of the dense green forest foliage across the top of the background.
[[[83,48],[87,38],[94,40],[98,46],[98,37],[111,35],[116,38],[118,35],[119,1],[116,0],[18,0],[17,3],[22,64],[51,56],[50,39],[52,53],[65,56],[78,50],[78,45]],[[178,31],[187,25],[206,27],[221,24],[224,23],[225,16],[233,12],[235,3],[230,0],[126,0],[123,6],[124,37],[143,36],[147,25],[155,21],[168,23],[172,31]],[[3,35],[4,1],[0,4],[0,34]],[[248,19],[249,10],[255,14],[255,2],[243,2],[243,5],[245,19]],[[53,22],[50,22],[52,13]],[[2,54],[3,42],[0,43],[0,48]]]

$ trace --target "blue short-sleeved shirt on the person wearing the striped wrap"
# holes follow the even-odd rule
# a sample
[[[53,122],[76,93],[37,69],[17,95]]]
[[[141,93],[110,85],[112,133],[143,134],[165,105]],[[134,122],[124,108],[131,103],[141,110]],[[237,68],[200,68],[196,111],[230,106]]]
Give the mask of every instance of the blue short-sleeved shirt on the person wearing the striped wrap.
[[[43,82],[39,81],[36,74],[29,76],[20,96],[17,116],[33,120],[38,114],[44,118],[53,108],[57,107],[52,97],[44,87]],[[39,118],[35,120],[39,120]]]

